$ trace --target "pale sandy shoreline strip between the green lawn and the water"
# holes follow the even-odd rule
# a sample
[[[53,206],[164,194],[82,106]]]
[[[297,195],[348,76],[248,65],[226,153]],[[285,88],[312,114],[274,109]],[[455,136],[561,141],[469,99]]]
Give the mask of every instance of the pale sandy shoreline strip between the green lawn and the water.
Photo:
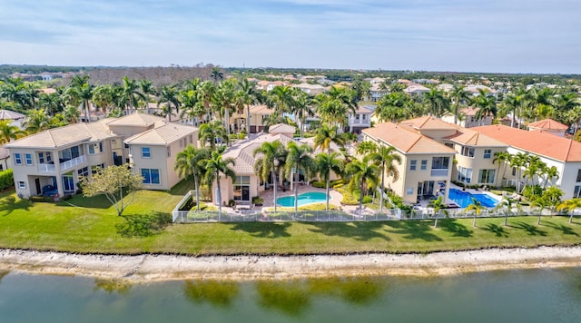
[[[78,255],[0,250],[0,269],[147,282],[172,279],[297,279],[327,276],[455,275],[496,269],[581,267],[581,247],[419,254],[316,256]]]

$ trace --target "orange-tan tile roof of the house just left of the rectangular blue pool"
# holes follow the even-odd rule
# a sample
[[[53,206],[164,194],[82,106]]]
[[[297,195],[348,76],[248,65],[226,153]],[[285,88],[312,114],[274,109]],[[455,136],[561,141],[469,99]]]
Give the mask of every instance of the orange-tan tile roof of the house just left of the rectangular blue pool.
[[[404,153],[456,153],[452,148],[421,135],[406,124],[384,122],[364,129],[363,132]]]

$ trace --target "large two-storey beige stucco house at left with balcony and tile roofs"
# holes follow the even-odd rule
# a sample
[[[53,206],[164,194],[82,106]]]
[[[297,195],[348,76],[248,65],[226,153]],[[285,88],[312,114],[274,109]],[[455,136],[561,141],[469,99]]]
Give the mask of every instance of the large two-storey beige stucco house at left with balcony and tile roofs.
[[[168,190],[177,182],[170,171],[175,153],[186,142],[197,142],[197,128],[133,113],[38,132],[5,147],[12,160],[16,193],[28,198],[73,194],[81,178],[97,168],[125,163],[140,174],[149,171],[143,180],[146,188]],[[133,158],[130,152],[143,147],[150,148],[150,159]]]

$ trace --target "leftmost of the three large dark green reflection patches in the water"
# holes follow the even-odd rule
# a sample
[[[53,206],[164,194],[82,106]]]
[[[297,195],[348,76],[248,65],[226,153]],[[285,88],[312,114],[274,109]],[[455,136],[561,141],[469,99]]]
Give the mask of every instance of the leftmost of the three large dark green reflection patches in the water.
[[[215,307],[230,308],[239,295],[239,284],[219,280],[186,280],[183,294],[194,303],[207,302]]]

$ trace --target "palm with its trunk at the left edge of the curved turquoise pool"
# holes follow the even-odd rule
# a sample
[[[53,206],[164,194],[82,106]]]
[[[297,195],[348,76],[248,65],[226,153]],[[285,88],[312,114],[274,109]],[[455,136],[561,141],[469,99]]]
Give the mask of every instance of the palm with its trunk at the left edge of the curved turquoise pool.
[[[284,145],[280,141],[262,142],[260,147],[257,147],[252,156],[256,157],[261,154],[261,157],[254,164],[254,171],[259,175],[262,181],[269,180],[269,171],[272,177],[272,186],[274,190],[274,212],[276,213],[276,191],[278,186],[277,177],[281,165],[286,161],[287,152]]]

